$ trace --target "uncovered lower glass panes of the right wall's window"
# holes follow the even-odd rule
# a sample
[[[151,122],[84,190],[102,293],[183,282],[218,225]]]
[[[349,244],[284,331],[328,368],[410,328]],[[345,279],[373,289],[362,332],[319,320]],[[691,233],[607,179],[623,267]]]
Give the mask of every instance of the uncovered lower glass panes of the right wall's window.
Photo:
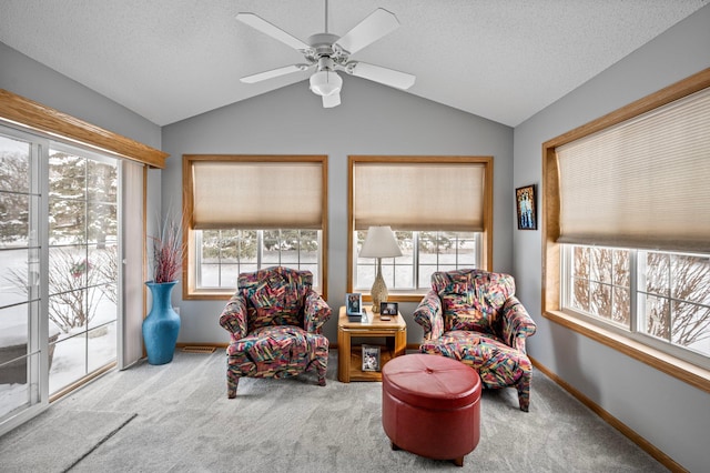
[[[564,310],[708,365],[709,255],[571,244],[562,252]]]

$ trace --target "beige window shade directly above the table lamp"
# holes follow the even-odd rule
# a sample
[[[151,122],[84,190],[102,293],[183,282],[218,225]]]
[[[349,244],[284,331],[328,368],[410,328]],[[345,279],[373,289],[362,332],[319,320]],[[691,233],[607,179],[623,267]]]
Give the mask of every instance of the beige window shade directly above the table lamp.
[[[353,165],[355,230],[484,230],[486,167],[471,163],[357,162]]]

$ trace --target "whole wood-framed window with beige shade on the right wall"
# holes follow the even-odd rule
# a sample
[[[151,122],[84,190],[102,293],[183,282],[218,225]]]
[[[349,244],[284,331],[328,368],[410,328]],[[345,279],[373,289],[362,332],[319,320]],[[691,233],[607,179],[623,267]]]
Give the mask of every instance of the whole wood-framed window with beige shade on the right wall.
[[[544,144],[544,314],[710,391],[710,72]]]

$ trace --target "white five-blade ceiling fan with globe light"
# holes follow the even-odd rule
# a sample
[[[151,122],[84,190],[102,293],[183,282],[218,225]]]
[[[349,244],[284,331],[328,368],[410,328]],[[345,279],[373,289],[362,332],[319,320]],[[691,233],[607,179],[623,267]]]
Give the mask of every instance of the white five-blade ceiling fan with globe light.
[[[242,82],[255,83],[314,68],[310,80],[311,91],[323,98],[324,108],[333,108],[341,104],[343,79],[337,74],[338,71],[398,89],[410,88],[416,79],[406,72],[351,60],[352,54],[399,27],[397,17],[383,8],[372,12],[345,36],[338,37],[328,32],[328,3],[325,0],[325,32],[313,34],[307,42],[254,13],[237,13],[236,19],[300,51],[305,59],[303,63],[243,77]]]

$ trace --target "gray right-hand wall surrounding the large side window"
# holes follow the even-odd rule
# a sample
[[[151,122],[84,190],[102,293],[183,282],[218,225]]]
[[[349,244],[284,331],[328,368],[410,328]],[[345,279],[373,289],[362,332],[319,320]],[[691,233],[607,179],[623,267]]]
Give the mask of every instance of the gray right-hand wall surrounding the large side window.
[[[515,187],[541,182],[541,143],[710,67],[710,7],[515,129]],[[690,471],[710,464],[710,394],[540,316],[541,232],[514,233],[518,296],[541,364]],[[535,403],[535,382],[532,384]]]

